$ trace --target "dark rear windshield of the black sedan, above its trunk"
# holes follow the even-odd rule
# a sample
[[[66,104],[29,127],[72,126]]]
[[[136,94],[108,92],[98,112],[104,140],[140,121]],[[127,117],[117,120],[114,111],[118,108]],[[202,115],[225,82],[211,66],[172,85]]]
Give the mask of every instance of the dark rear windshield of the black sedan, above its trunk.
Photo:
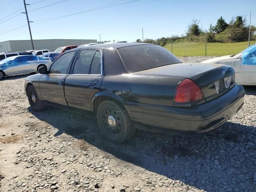
[[[171,52],[157,45],[136,45],[118,48],[127,72],[136,72],[164,65],[182,63]]]

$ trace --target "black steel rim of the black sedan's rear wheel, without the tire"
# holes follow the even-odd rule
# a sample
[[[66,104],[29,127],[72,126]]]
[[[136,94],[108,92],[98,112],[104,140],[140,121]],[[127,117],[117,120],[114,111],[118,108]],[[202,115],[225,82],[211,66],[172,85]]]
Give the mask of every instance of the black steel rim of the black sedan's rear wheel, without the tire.
[[[118,136],[122,132],[122,122],[120,112],[112,108],[106,108],[102,113],[102,122],[104,129],[112,136]]]

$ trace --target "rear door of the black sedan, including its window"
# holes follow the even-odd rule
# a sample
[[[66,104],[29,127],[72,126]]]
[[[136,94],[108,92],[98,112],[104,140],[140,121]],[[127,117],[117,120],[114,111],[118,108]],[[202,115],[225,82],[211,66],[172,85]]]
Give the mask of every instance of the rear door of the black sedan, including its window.
[[[92,97],[100,90],[103,79],[102,51],[81,50],[67,76],[64,87],[68,107],[91,111]]]

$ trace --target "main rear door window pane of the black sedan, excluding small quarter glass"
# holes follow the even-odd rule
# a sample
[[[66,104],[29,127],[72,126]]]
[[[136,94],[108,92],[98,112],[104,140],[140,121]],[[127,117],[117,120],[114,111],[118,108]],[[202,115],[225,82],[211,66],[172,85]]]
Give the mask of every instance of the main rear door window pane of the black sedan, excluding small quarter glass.
[[[96,50],[82,50],[76,58],[72,74],[89,74]]]

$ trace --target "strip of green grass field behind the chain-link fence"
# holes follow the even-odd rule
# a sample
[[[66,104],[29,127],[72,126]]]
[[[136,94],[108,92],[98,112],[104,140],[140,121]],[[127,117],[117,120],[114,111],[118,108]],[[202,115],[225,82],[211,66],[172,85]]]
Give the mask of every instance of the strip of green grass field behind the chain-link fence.
[[[250,45],[255,44],[256,41],[251,41]],[[224,56],[236,54],[248,47],[248,42],[238,43],[207,43],[206,44],[206,56]],[[178,57],[180,56],[204,56],[205,55],[205,43],[192,43],[181,42],[166,44],[164,48]]]

